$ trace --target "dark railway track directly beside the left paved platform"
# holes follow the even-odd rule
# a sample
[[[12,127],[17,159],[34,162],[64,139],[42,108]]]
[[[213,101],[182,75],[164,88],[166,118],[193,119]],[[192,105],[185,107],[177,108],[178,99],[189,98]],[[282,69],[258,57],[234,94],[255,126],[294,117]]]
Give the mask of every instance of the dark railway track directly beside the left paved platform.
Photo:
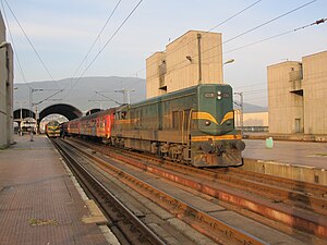
[[[60,139],[52,139],[51,142],[63,156],[83,188],[96,199],[97,204],[105,211],[110,220],[113,233],[122,244],[166,244],[94,177],[89,170],[81,163],[77,159],[78,156],[71,150],[70,146]]]

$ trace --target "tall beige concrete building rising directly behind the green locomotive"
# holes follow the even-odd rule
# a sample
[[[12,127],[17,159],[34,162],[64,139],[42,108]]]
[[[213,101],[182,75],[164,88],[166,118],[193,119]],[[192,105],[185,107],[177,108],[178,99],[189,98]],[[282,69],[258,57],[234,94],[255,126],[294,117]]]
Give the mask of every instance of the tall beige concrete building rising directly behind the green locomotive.
[[[190,30],[146,59],[146,97],[223,83],[221,34]]]

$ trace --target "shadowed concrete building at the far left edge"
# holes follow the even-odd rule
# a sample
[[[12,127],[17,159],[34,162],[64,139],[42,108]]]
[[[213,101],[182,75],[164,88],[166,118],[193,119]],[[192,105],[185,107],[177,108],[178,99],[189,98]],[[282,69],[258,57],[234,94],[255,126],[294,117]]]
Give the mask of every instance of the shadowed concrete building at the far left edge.
[[[13,143],[13,51],[0,13],[0,148]]]

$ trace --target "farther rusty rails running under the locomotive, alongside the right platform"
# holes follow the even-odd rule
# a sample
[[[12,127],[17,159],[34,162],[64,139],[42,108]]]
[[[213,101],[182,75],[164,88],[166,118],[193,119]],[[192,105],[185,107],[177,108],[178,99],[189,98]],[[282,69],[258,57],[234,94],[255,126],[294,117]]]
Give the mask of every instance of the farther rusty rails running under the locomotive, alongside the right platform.
[[[136,158],[141,158],[140,154],[129,152]],[[150,156],[143,156],[152,162],[159,162]],[[237,168],[222,169],[196,169],[189,166],[175,164],[165,161],[165,168],[182,170],[183,173],[191,173],[225,185],[237,187],[245,192],[254,193],[272,199],[275,203],[284,203],[291,206],[298,206],[304,210],[312,210],[316,213],[327,215],[327,186],[322,186],[301,181],[293,181],[283,177],[272,176],[262,173],[253,173]],[[252,177],[253,176],[253,177]]]

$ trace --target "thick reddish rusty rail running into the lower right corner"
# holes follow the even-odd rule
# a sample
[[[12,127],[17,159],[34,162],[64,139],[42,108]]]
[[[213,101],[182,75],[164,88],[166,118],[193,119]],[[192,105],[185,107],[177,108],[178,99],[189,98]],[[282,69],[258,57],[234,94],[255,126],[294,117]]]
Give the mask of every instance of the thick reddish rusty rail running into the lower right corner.
[[[141,159],[133,159],[131,158],[131,156],[122,156],[121,154],[116,154],[112,151],[106,154],[112,158],[133,164],[147,172],[162,176],[184,186],[189,186],[191,188],[194,188],[196,191],[199,191],[204,194],[210,195],[229,204],[243,207],[247,210],[254,211],[275,221],[279,221],[287,225],[296,228],[311,234],[318,235],[320,237],[327,237],[327,221],[323,217],[306,215],[293,209],[292,207],[280,207],[279,205],[271,204],[270,201],[258,203],[253,200],[253,198],[251,198],[246,194],[240,195],[217,185],[193,180],[192,177],[182,176],[169,170],[165,170],[160,167],[146,164]],[[183,168],[190,169],[187,167]],[[196,169],[190,171],[196,171]]]

